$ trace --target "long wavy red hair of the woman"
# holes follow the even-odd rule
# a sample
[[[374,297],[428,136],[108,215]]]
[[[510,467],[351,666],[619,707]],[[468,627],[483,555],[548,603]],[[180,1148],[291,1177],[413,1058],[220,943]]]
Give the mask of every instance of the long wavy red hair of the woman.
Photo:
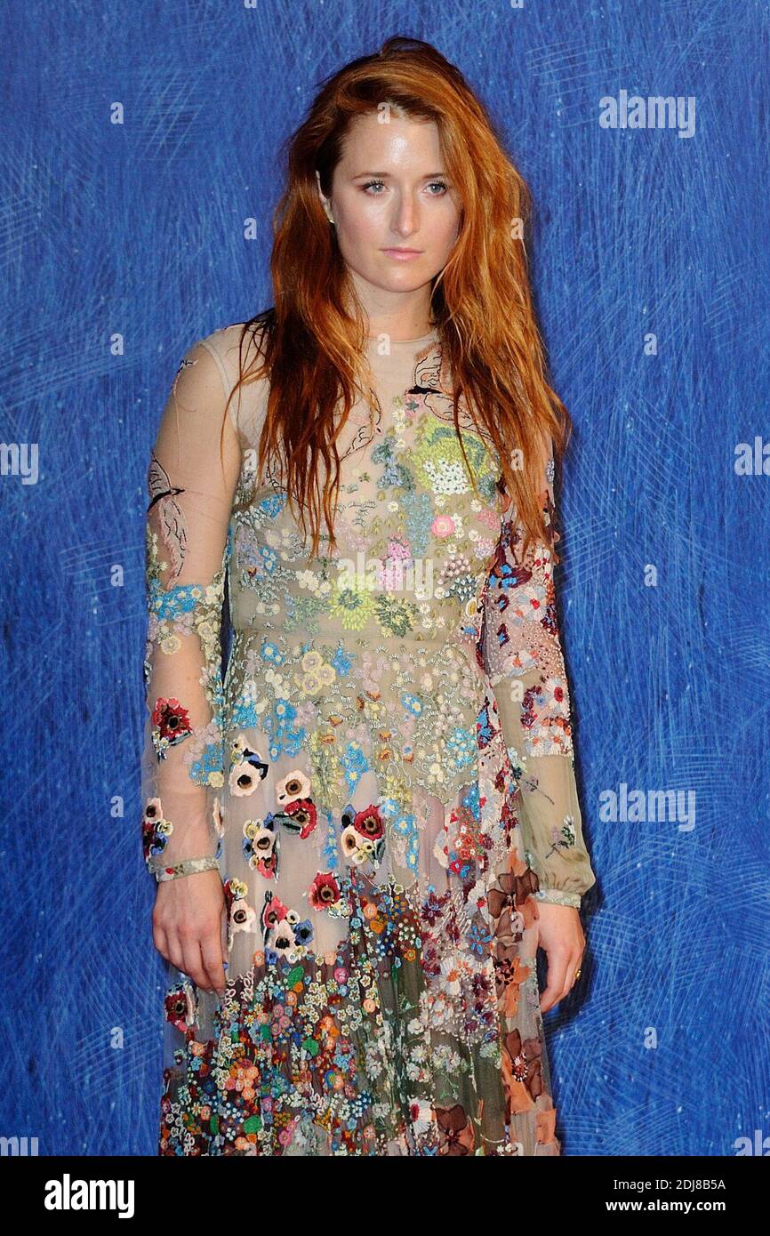
[[[383,103],[397,116],[435,122],[461,200],[460,234],[433,279],[430,300],[452,376],[457,430],[463,398],[498,452],[499,488],[524,531],[522,552],[531,541],[546,541],[557,562],[557,534],[544,515],[544,467],[551,452],[561,457],[571,420],[548,382],[535,323],[524,240],[531,194],[463,75],[429,43],[388,38],[376,54],[346,64],[323,83],[284,143],[287,184],[273,216],[274,305],[243,324],[231,398],[241,384],[268,377],[258,468],[278,470],[311,552],[321,538],[334,545],[336,440],[356,398],[368,391],[368,326],[315,173],[330,197],[351,122]],[[260,352],[246,366],[243,345],[255,336]]]

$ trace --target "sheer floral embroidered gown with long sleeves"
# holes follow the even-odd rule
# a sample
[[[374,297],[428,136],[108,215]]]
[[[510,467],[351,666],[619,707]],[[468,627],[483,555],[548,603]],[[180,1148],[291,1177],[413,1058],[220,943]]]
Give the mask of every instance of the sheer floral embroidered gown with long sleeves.
[[[240,331],[183,357],[148,476],[145,858],[218,854],[227,906],[224,1000],[167,964],[158,1153],[559,1154],[538,901],[594,875],[551,556],[465,418],[473,487],[433,334],[370,340],[309,560],[264,379],[220,465]]]

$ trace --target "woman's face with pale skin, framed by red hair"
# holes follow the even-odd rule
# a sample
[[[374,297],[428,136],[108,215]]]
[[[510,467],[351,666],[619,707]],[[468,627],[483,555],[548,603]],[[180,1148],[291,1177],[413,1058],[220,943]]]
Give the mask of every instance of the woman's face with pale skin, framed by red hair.
[[[388,294],[430,290],[457,239],[461,210],[433,121],[357,116],[331,198],[321,199],[365,307],[384,308]]]

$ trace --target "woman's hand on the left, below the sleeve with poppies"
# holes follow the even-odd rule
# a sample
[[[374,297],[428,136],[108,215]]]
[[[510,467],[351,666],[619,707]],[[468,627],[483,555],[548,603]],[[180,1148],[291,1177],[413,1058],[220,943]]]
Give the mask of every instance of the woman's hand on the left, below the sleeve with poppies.
[[[158,884],[152,941],[158,953],[204,991],[225,994],[225,892],[219,871]]]

